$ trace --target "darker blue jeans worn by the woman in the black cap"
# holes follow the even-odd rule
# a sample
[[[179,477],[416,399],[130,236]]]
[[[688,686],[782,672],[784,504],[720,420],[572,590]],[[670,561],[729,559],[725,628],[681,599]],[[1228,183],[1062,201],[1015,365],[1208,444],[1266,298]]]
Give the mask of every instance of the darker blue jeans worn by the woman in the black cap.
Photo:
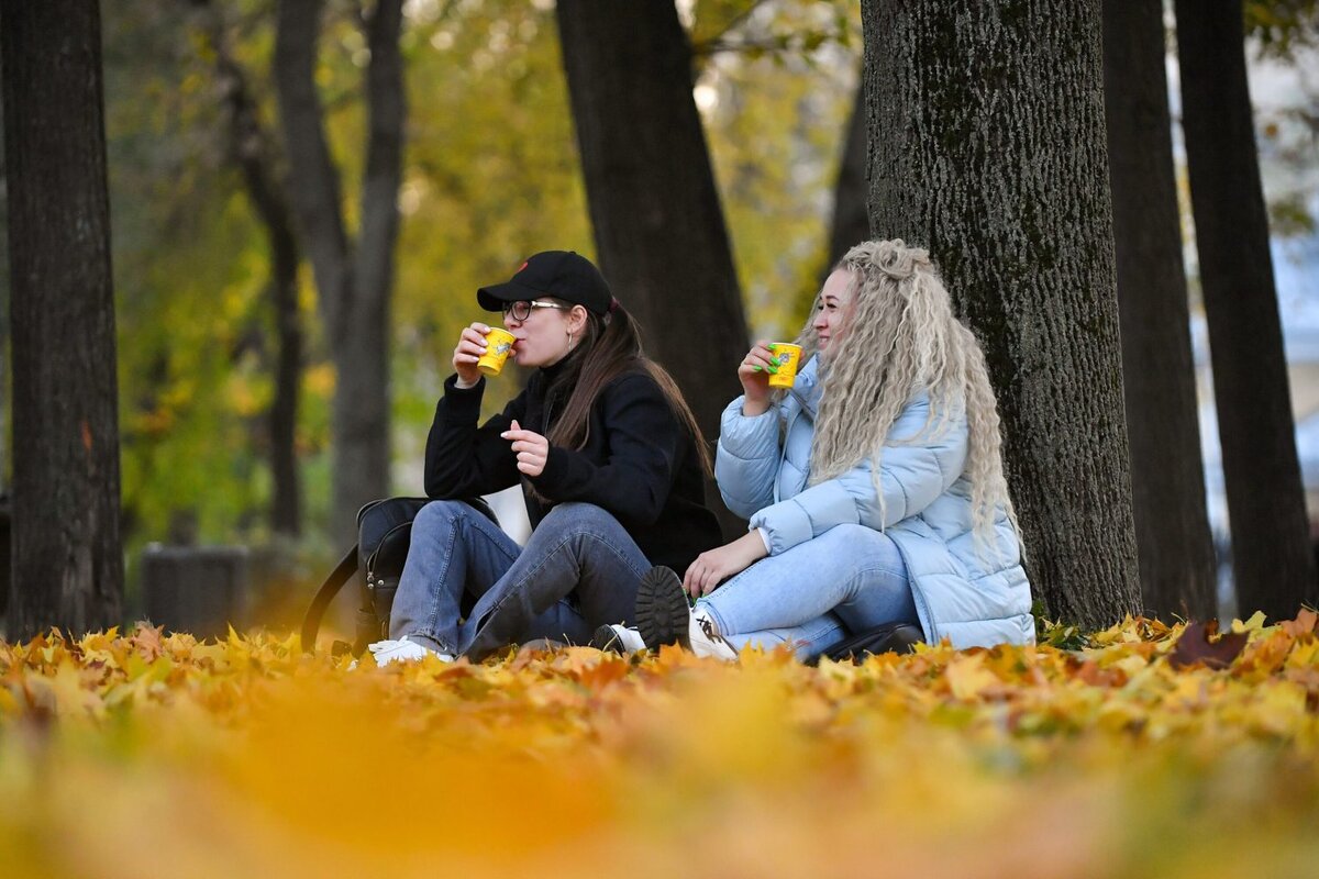
[[[462,501],[433,501],[413,521],[389,637],[480,660],[512,643],[586,643],[600,625],[630,622],[650,563],[619,521],[591,503],[561,503],[526,547]],[[464,592],[476,606],[462,621]]]

